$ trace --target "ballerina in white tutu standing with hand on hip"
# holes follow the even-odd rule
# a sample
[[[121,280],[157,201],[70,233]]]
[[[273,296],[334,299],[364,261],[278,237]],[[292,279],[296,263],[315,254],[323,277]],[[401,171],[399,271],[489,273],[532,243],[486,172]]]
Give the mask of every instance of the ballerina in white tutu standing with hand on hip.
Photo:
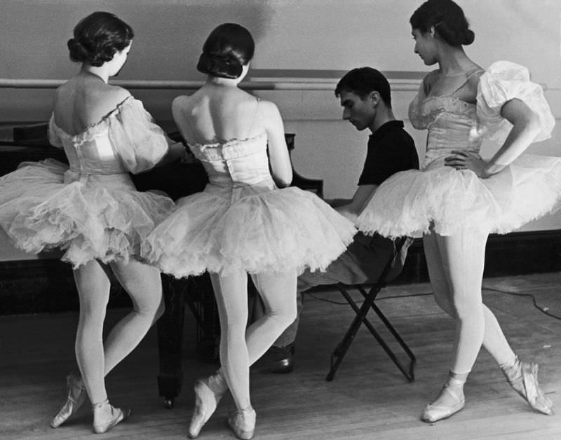
[[[428,129],[424,164],[381,184],[358,226],[389,237],[423,233],[435,301],[455,320],[450,376],[421,419],[435,422],[464,407],[464,383],[481,345],[532,408],[551,414],[538,366],[518,360],[482,303],[481,284],[487,235],[513,231],[560,199],[561,158],[520,156],[547,139],[555,121],[527,69],[496,62],[485,71],[466,56],[462,45],[474,34],[453,1],[426,1],[410,22],[414,52],[439,67],[410,105],[414,127]],[[484,137],[500,144],[490,160],[478,154]]]

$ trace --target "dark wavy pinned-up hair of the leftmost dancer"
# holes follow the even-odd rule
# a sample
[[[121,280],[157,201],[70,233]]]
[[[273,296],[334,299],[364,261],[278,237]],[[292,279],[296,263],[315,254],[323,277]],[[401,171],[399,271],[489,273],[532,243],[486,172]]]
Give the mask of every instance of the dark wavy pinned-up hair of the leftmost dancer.
[[[109,12],[95,12],[82,18],[68,40],[70,60],[100,67],[126,48],[135,36],[133,28]]]

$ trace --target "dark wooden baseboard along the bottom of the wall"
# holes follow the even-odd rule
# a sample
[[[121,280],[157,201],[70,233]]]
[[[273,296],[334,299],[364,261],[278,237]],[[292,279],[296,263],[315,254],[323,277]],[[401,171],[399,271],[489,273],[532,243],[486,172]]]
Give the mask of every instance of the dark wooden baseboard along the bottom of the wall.
[[[561,271],[561,229],[491,235],[485,277]],[[394,283],[428,282],[421,239],[414,240]],[[114,283],[109,307],[130,304]],[[0,315],[78,310],[72,270],[58,259],[0,262]]]

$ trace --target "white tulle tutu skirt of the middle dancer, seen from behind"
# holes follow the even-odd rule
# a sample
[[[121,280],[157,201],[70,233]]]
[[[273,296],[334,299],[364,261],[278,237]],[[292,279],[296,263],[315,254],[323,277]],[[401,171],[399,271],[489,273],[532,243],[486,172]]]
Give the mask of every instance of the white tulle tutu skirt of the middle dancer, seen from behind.
[[[355,233],[351,221],[299,188],[208,185],[177,202],[142,256],[177,278],[205,270],[302,273],[325,270]]]

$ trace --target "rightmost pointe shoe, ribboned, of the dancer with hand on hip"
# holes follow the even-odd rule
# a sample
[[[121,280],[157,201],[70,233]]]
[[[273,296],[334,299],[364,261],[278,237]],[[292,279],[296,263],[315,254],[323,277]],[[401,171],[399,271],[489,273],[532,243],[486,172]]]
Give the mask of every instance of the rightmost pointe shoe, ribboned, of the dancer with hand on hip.
[[[538,383],[538,364],[520,362],[516,358],[513,366],[501,366],[506,380],[534,410],[553,415],[553,402],[546,397]]]

